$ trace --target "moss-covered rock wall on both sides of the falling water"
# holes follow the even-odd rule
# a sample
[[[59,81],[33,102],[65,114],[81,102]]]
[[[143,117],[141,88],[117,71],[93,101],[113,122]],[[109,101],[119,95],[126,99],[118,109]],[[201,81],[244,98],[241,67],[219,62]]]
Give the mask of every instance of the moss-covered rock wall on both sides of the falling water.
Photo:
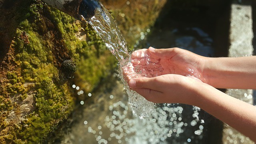
[[[138,0],[137,8],[125,9],[123,1],[117,7],[101,1],[131,47],[136,37],[128,36],[129,27],[139,36],[165,2]],[[143,5],[155,9],[147,13]],[[126,17],[118,15],[122,10]],[[0,0],[0,12],[0,143],[41,143],[76,108],[80,98],[72,84],[91,92],[115,71],[117,60],[88,24],[40,0]]]

